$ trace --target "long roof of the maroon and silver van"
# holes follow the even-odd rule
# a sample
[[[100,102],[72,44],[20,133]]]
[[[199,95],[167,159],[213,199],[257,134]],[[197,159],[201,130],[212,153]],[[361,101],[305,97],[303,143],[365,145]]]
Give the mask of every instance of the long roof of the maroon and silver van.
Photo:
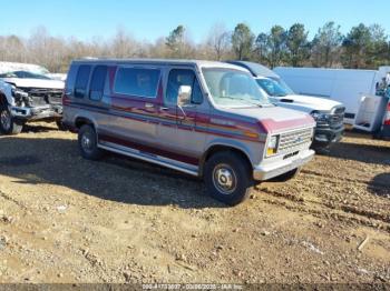
[[[199,68],[225,68],[247,71],[240,66],[218,61],[204,60],[176,60],[176,59],[105,59],[84,58],[74,60],[72,63],[105,63],[105,64],[156,64],[156,66],[197,66]]]

